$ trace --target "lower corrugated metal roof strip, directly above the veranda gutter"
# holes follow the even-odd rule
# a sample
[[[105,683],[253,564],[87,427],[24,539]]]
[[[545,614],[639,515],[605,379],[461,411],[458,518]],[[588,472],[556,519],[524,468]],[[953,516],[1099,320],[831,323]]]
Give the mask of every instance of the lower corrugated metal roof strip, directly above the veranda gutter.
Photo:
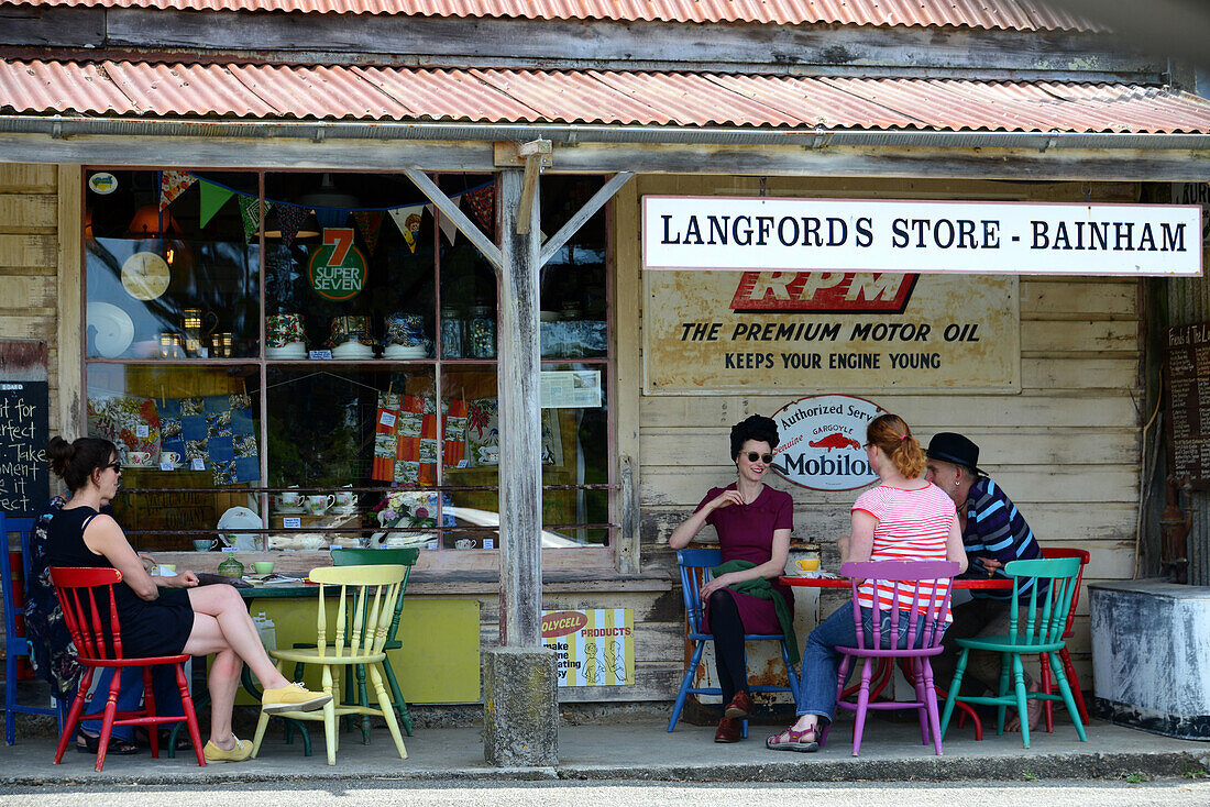
[[[1210,133],[1210,102],[1118,83],[0,60],[8,114]]]

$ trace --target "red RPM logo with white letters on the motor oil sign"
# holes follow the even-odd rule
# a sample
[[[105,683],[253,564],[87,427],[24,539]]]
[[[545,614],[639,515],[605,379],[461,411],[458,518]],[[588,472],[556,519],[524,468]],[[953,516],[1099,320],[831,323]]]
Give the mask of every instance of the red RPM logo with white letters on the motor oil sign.
[[[895,272],[744,272],[737,313],[903,313],[920,275]]]

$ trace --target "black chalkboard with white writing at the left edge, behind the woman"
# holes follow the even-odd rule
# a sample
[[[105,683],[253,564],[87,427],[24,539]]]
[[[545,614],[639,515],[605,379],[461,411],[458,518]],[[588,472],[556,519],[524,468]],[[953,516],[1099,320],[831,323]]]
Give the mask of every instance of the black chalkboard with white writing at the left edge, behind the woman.
[[[0,509],[8,517],[34,518],[46,507],[50,439],[47,382],[0,380]]]

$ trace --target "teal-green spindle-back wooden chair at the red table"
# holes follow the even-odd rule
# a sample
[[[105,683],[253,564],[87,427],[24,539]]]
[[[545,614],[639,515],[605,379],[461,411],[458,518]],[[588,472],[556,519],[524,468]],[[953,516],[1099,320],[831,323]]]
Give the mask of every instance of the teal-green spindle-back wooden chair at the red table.
[[[1067,707],[1071,720],[1076,724],[1076,733],[1083,742],[1088,739],[1084,734],[1084,724],[1079,719],[1079,710],[1072,697],[1071,686],[1062,674],[1062,664],[1059,661],[1059,651],[1065,647],[1064,629],[1067,627],[1067,613],[1071,611],[1072,598],[1077,590],[1081,563],[1078,558],[1056,558],[1053,560],[1014,560],[1004,566],[1004,572],[1013,577],[1013,600],[1009,609],[1009,633],[999,636],[976,636],[972,639],[956,639],[962,649],[958,657],[958,665],[953,673],[953,681],[950,684],[950,694],[945,699],[945,711],[941,715],[941,736],[950,725],[950,715],[953,713],[953,704],[957,701],[963,703],[983,703],[998,707],[998,722],[996,733],[1004,733],[1004,715],[1008,707],[1016,709],[1021,717],[1021,740],[1025,748],[1030,747],[1030,721],[1028,701],[1062,701]],[[1030,582],[1032,581],[1032,586]],[[1028,587],[1028,613],[1025,624],[1021,626],[1020,606],[1021,592]],[[1038,589],[1045,588],[1045,593],[1038,595]],[[1041,611],[1038,609],[1041,601]],[[1024,629],[1020,629],[1024,628]],[[960,696],[962,688],[962,675],[967,669],[967,659],[972,650],[987,650],[1001,653],[999,694],[995,697]],[[1059,685],[1061,694],[1048,694],[1045,692],[1027,692],[1025,688],[1025,668],[1021,664],[1022,655],[1045,653],[1050,659],[1050,669]],[[1013,687],[1009,688],[1012,678]]]

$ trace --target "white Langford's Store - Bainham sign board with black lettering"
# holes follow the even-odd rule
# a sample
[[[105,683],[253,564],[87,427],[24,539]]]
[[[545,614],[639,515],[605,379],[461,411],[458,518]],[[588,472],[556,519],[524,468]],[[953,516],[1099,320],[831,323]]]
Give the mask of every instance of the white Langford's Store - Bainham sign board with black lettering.
[[[1202,275],[1185,204],[644,196],[647,270]]]

